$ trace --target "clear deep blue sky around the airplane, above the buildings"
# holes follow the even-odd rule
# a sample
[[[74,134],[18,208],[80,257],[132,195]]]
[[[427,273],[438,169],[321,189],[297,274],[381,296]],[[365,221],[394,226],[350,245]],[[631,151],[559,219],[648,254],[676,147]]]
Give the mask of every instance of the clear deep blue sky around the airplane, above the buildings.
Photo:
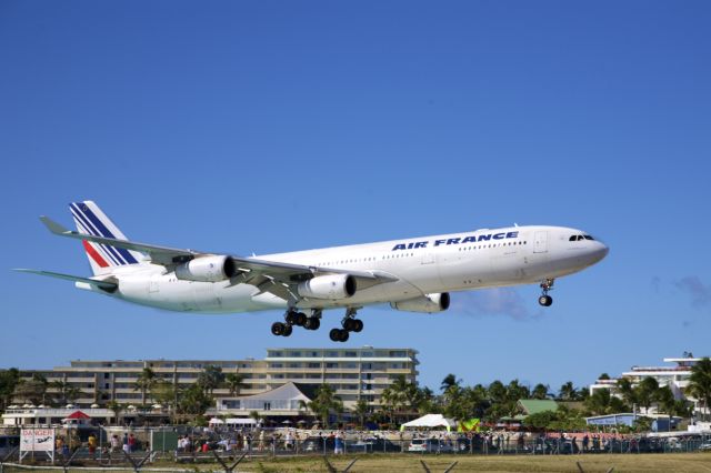
[[[0,4],[0,366],[329,346],[280,312],[160,312],[17,274],[88,274],[96,200],[139,241],[236,254],[519,224],[611,248],[437,315],[361,312],[347,345],[420,350],[422,384],[544,382],[711,354],[708,1]],[[326,329],[326,330],[324,330]]]

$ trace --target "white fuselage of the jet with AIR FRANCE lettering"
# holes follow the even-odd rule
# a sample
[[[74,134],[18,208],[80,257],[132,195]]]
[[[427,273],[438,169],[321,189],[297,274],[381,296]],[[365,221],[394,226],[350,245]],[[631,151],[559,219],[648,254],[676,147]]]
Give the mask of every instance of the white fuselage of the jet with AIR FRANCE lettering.
[[[358,289],[347,299],[311,299],[296,304],[299,309],[359,308],[430,293],[529,284],[564,276],[597,263],[608,253],[599,241],[570,240],[571,235],[580,234],[583,234],[580,230],[561,227],[512,227],[254,258],[377,272],[394,279]],[[288,305],[286,300],[253,285],[179,280],[161,265],[120,266],[112,275],[119,281],[119,290],[112,295],[171,311],[233,313]],[[77,285],[91,289],[81,282]]]

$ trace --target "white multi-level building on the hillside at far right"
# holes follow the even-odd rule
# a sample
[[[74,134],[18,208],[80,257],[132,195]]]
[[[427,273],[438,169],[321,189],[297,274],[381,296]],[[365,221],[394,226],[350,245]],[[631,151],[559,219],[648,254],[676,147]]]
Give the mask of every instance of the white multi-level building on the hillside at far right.
[[[660,386],[669,386],[674,393],[675,399],[688,399],[694,402],[694,410],[700,412],[701,407],[698,400],[689,396],[685,393],[689,385],[689,376],[691,376],[691,368],[701,361],[701,358],[665,358],[665,363],[675,363],[675,365],[668,366],[632,366],[630,371],[625,371],[619,378],[612,378],[609,380],[597,380],[590,385],[590,394],[592,395],[597,390],[607,389],[613,395],[618,393],[618,380],[627,378],[632,382],[632,385],[637,385],[644,378],[653,378],[657,380]]]

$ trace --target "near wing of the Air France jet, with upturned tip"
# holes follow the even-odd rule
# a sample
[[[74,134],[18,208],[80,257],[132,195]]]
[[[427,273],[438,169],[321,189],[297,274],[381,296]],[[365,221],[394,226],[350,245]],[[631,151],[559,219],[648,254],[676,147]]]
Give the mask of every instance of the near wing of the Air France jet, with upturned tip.
[[[128,240],[117,240],[106,236],[96,236],[68,230],[44,215],[40,217],[40,220],[50,232],[57,235],[72,238],[76,240],[87,240],[94,243],[124,248],[127,250],[146,253],[150,256],[151,262],[167,268],[172,268],[176,264],[184,263],[194,258],[216,254],[194,250],[182,250],[148,243],[138,243]],[[251,284],[258,288],[260,292],[270,292],[284,300],[300,299],[296,295],[296,285],[317,275],[350,274],[356,278],[359,289],[367,289],[384,282],[397,281],[397,278],[381,271],[351,271],[268,261],[257,258],[234,255],[230,255],[230,258],[234,260],[238,268],[238,274],[231,280],[232,284]]]

